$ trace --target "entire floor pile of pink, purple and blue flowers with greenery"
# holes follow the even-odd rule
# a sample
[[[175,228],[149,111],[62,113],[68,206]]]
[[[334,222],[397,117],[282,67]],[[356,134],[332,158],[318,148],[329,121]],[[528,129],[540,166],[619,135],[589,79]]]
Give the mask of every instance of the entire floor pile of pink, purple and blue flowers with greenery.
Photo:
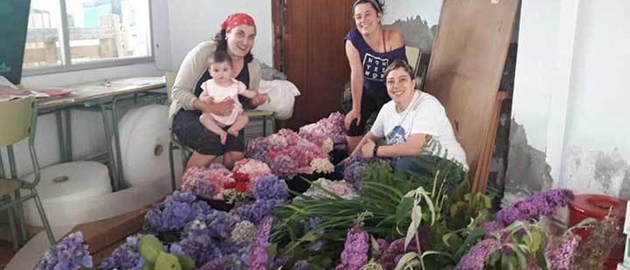
[[[351,156],[344,180],[319,178],[289,201],[286,180],[332,172],[329,153],[344,141],[338,113],[255,139],[232,170],[186,170],[181,191],[155,204],[142,233],[110,257],[93,262],[72,233],[35,269],[597,269],[621,239],[614,217],[587,225],[587,239],[576,228],[551,230],[544,219],[571,201],[566,189],[493,213],[490,197],[467,193],[463,168],[427,156],[418,161],[435,172],[418,175]],[[213,209],[207,199],[234,207]]]

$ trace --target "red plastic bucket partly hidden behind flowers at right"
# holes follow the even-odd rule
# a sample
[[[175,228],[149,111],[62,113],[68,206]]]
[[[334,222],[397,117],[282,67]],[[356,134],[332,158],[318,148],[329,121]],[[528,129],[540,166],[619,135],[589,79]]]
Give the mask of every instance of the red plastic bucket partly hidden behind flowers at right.
[[[623,222],[626,217],[626,201],[604,195],[576,195],[569,203],[569,226],[576,225],[586,218],[603,220],[611,208],[612,214]],[[575,230],[575,233],[582,239],[590,237],[586,230]],[[610,252],[607,261],[604,262],[605,269],[617,269],[617,263],[624,260],[624,244],[625,241]]]

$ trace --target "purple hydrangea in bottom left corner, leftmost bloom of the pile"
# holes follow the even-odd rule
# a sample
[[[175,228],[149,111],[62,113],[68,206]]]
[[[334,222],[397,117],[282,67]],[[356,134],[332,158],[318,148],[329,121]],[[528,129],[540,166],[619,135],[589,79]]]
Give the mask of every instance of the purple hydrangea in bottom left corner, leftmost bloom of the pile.
[[[74,232],[50,247],[35,266],[36,270],[76,270],[92,267],[92,256],[81,232]]]

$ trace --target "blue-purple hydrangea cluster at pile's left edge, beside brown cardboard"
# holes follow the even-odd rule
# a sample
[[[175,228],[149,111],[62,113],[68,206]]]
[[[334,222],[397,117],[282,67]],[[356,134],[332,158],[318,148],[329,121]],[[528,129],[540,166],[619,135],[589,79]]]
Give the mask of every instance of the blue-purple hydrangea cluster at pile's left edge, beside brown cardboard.
[[[158,204],[146,214],[149,232],[168,232],[181,230],[187,223],[199,215],[210,212],[210,206],[197,198],[192,192],[175,191],[166,197],[163,204]]]

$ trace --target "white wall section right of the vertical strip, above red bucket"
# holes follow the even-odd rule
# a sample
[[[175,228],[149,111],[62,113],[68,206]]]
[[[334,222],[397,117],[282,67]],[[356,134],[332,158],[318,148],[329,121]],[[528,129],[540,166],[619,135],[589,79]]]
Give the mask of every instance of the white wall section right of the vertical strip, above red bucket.
[[[578,192],[619,196],[630,180],[627,10],[623,0],[580,1],[559,179]]]

